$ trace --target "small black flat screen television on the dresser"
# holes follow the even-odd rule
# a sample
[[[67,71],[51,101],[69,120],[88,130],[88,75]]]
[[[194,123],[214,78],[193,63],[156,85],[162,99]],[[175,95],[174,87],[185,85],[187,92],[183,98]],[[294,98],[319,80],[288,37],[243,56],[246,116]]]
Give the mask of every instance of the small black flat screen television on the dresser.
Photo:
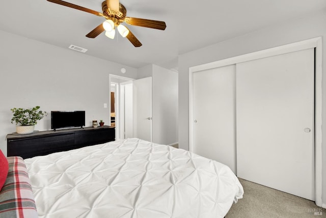
[[[85,111],[51,111],[51,129],[85,126]]]

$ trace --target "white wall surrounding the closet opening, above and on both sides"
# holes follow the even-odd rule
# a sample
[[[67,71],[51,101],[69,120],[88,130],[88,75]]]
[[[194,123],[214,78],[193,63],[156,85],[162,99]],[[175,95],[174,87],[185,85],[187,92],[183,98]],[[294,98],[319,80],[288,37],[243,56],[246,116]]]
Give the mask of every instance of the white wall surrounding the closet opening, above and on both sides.
[[[210,45],[179,56],[179,147],[189,143],[189,67],[322,36],[322,68],[326,69],[326,14],[320,13]],[[324,77],[326,75],[323,75]],[[326,123],[326,79],[322,80],[322,122]],[[326,130],[322,130],[322,166],[326,166]],[[322,169],[322,201],[326,206],[326,168]]]

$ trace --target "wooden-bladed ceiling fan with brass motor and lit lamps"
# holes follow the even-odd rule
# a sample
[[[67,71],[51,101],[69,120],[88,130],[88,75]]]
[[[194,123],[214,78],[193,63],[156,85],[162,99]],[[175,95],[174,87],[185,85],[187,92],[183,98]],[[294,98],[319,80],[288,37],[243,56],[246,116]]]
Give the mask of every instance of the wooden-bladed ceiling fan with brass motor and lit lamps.
[[[142,43],[130,32],[130,30],[126,26],[122,25],[121,23],[125,22],[129,25],[143,26],[146,28],[153,28],[157,30],[165,30],[167,27],[164,21],[126,17],[127,10],[122,4],[119,3],[119,0],[105,0],[104,2],[102,2],[103,13],[61,0],[47,1],[104,17],[106,20],[96,26],[94,30],[92,30],[86,35],[89,38],[95,38],[105,31],[105,36],[114,39],[116,33],[115,30],[118,29],[118,32],[122,37],[126,37],[135,47],[140,47],[142,46]]]

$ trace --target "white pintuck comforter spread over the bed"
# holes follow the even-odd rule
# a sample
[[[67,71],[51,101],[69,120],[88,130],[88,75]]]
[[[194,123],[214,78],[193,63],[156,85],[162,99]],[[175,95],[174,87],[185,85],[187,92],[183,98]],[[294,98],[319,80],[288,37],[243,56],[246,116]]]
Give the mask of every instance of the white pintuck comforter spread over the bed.
[[[139,139],[25,163],[39,217],[224,217],[243,194],[222,163]]]

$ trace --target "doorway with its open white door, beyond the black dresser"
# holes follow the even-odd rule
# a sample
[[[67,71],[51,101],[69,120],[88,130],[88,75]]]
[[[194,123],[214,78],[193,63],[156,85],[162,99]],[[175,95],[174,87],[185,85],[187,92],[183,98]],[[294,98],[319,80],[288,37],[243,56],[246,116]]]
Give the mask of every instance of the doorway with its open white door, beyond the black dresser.
[[[152,77],[132,79],[110,74],[110,119],[116,140],[139,138],[152,141]],[[111,99],[115,100],[112,101]]]

